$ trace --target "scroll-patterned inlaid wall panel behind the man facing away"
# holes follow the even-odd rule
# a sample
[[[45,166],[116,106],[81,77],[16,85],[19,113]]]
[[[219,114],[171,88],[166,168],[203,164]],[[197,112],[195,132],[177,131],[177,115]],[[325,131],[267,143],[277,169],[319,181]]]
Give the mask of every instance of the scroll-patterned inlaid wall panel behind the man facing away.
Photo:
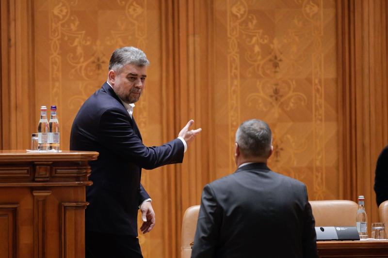
[[[216,45],[224,41],[227,46],[216,53],[216,62],[227,65],[228,136],[222,141],[229,151],[218,149],[225,154],[217,155],[223,160],[219,164],[228,164],[219,176],[235,169],[239,124],[259,118],[273,130],[270,167],[307,183],[312,199],[338,197],[339,192],[332,191],[338,189],[339,176],[334,1],[228,0],[226,9],[223,2],[217,1],[216,28],[223,24],[226,28],[218,33]],[[222,94],[224,85],[217,94]],[[327,148],[327,142],[334,145]]]

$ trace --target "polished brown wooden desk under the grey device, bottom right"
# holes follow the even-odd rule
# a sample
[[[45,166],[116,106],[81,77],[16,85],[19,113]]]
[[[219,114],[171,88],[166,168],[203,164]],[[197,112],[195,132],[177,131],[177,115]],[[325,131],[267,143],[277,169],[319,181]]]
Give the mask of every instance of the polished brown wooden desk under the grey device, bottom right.
[[[388,258],[388,241],[317,241],[320,258]]]

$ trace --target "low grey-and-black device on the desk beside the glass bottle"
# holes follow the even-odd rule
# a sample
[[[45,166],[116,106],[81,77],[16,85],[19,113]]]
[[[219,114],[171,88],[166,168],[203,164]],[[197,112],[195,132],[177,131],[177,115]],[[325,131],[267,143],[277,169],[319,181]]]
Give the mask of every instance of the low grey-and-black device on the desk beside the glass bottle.
[[[360,240],[357,227],[315,227],[319,240]]]

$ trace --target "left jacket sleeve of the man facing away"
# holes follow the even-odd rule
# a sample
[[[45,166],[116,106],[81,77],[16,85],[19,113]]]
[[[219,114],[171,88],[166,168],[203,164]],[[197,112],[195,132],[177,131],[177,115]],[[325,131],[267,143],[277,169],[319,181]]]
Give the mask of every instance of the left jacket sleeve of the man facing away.
[[[207,184],[202,191],[197,228],[195,231],[192,258],[215,257],[216,244],[222,224],[222,211],[214,191]]]

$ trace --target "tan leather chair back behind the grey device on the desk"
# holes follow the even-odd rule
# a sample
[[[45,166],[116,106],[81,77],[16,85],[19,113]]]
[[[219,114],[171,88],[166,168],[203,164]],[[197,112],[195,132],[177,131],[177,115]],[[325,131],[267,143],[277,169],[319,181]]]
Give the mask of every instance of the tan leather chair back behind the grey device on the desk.
[[[356,226],[358,204],[350,200],[310,201],[316,227]]]

